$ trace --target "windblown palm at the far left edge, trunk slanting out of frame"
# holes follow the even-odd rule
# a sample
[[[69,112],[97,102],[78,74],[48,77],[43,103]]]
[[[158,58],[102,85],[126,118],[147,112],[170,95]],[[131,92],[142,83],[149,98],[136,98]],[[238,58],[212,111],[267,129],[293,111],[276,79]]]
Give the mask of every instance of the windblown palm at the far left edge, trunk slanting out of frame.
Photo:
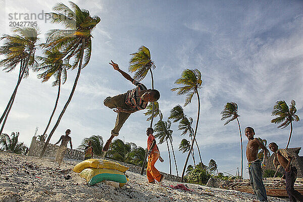
[[[28,76],[29,68],[36,68],[35,62],[35,44],[38,38],[38,29],[36,27],[16,27],[13,32],[15,34],[4,34],[0,39],[4,40],[4,44],[0,46],[0,55],[4,59],[0,61],[0,66],[5,67],[3,70],[11,72],[20,64],[19,76],[16,87],[9,100],[9,103],[0,118],[0,123],[3,125],[0,129],[0,134],[4,129],[6,120],[13,106],[18,87],[23,78]]]

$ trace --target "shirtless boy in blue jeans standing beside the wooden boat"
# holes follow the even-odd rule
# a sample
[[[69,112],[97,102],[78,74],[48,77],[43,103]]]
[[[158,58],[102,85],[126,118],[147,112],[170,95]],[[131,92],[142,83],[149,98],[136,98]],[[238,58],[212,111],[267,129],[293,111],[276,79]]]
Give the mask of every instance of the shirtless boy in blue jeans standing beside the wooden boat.
[[[267,201],[266,189],[262,181],[261,161],[258,159],[259,147],[263,149],[264,159],[262,165],[265,167],[269,150],[264,146],[258,138],[254,138],[255,130],[251,127],[245,128],[245,136],[248,139],[246,145],[246,158],[248,161],[249,181],[252,190],[254,190],[260,201]]]

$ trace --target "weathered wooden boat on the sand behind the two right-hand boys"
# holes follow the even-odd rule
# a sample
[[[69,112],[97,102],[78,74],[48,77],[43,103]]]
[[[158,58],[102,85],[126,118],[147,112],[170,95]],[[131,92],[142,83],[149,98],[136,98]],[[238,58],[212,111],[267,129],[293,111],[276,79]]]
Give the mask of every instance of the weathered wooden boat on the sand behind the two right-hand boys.
[[[266,189],[266,194],[268,196],[278,196],[284,197],[288,196],[286,189],[285,189],[285,180],[281,181],[280,177],[268,177],[263,179],[263,183]],[[222,188],[225,189],[234,189],[237,191],[242,191],[246,193],[254,193],[252,191],[249,179],[246,180],[238,180],[236,182],[222,184]],[[294,189],[303,194],[303,178],[297,178],[294,183]]]

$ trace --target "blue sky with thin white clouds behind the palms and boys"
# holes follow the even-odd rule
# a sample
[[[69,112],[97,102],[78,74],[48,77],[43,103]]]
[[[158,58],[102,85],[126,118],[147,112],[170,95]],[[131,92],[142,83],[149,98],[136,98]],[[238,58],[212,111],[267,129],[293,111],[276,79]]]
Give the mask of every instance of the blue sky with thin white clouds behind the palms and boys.
[[[69,5],[68,1],[61,1]],[[203,163],[217,162],[219,172],[235,175],[241,167],[240,136],[236,121],[224,126],[220,112],[227,102],[238,105],[243,139],[244,178],[248,178],[244,129],[251,126],[256,137],[275,141],[280,147],[287,144],[290,127],[278,129],[271,123],[273,106],[278,100],[288,105],[296,102],[297,115],[302,118],[303,105],[303,2],[302,1],[74,1],[91,16],[101,21],[92,31],[92,54],[89,64],[82,69],[73,95],[51,143],[55,143],[67,128],[71,129],[73,147],[84,137],[110,137],[116,113],[103,105],[107,96],[124,93],[134,88],[119,72],[109,65],[110,60],[128,72],[130,54],[141,45],[149,48],[155,62],[155,88],[161,93],[160,109],[166,121],[170,110],[184,105],[185,96],[170,89],[184,69],[198,69],[203,80],[200,95],[200,118],[196,139]],[[11,34],[10,24],[20,22],[25,14],[52,11],[55,1],[0,0],[0,32]],[[17,15],[14,15],[17,13]],[[24,14],[24,15],[19,15]],[[37,22],[45,42],[45,32],[63,28],[45,19]],[[1,42],[2,44],[2,42]],[[37,55],[41,51],[37,50]],[[3,69],[3,67],[2,67]],[[73,86],[76,71],[68,71],[53,128]],[[133,74],[129,73],[131,76]],[[15,88],[18,68],[13,72],[0,71],[0,112],[3,112]],[[143,80],[151,88],[150,74]],[[4,133],[20,132],[20,141],[30,145],[35,128],[42,134],[51,115],[57,96],[52,81],[41,83],[37,73],[30,71],[23,79],[15,103],[4,128]],[[187,117],[197,118],[197,98],[183,107]],[[146,147],[146,128],[149,122],[143,111],[132,114],[120,130],[118,138]],[[157,122],[156,118],[154,122]],[[187,154],[178,151],[183,138],[178,124],[172,123],[173,145],[179,175]],[[303,144],[303,122],[293,123],[289,147]],[[49,131],[47,133],[49,133]],[[165,143],[158,145],[164,163],[156,167],[169,173],[168,151]],[[195,148],[196,152],[196,148]],[[195,153],[196,163],[199,162]],[[303,152],[300,151],[300,156]],[[173,164],[173,159],[172,159]],[[188,164],[192,164],[189,159]],[[172,174],[176,174],[172,165]]]

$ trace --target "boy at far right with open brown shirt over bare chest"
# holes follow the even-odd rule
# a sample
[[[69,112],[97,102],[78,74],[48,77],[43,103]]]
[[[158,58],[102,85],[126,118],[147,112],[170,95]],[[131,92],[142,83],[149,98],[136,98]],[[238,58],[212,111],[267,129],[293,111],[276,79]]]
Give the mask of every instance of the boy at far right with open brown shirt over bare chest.
[[[291,161],[293,159],[292,155],[289,154],[285,148],[278,149],[278,145],[275,142],[269,143],[268,147],[275,155],[273,159],[275,168],[279,169],[282,166],[285,169],[285,188],[289,197],[289,201],[296,202],[298,200],[300,202],[303,202],[302,194],[293,188],[297,175],[297,169],[291,165]]]

